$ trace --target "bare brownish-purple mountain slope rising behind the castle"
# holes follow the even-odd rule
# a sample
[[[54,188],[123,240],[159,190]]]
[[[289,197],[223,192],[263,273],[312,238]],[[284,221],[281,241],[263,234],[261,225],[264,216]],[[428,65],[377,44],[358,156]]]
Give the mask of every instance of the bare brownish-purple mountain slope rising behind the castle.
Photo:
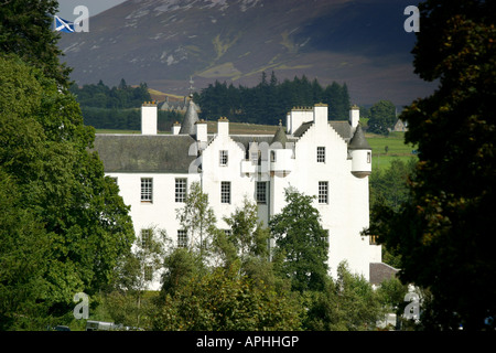
[[[145,82],[184,95],[216,79],[277,77],[346,83],[356,104],[407,105],[434,86],[413,74],[411,0],[129,0],[58,42],[79,85]]]

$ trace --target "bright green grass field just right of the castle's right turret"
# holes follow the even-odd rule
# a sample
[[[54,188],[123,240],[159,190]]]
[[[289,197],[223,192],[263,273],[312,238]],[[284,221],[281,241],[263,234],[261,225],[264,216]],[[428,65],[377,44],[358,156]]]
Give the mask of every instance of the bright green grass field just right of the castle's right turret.
[[[388,168],[395,159],[407,162],[411,158],[417,158],[412,153],[416,147],[405,143],[405,132],[391,132],[388,137],[365,133],[365,137],[373,148],[373,170]],[[388,147],[387,152],[386,146]]]

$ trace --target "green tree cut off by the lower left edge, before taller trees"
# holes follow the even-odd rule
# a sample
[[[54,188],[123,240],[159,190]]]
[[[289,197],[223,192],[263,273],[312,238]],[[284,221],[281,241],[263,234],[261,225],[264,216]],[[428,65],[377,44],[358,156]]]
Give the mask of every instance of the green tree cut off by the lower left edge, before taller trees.
[[[50,248],[43,223],[0,167],[0,330],[35,330],[33,318],[47,314]]]

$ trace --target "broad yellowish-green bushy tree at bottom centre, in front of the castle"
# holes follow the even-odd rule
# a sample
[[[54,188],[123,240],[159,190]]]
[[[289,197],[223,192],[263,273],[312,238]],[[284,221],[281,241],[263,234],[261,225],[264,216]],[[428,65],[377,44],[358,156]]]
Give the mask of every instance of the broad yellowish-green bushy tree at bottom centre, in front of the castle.
[[[288,293],[252,286],[236,268],[190,278],[155,309],[155,331],[299,330],[301,310]]]

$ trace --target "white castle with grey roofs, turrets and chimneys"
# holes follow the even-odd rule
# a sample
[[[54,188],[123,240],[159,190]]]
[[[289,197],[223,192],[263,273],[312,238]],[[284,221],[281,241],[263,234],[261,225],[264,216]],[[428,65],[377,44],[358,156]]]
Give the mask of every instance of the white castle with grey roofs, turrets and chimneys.
[[[259,220],[268,224],[284,206],[284,190],[295,188],[315,195],[314,206],[328,232],[328,266],[336,276],[341,261],[371,280],[381,264],[381,247],[360,232],[369,225],[368,175],[371,149],[358,124],[354,106],[349,119],[327,120],[327,106],[293,108],[285,129],[274,135],[231,135],[220,118],[216,133],[207,132],[193,99],[172,133],[158,133],[158,107],[141,107],[141,135],[97,135],[95,149],[107,175],[117,181],[130,205],[137,235],[164,229],[177,246],[187,240],[176,210],[184,205],[188,186],[202,185],[215,211],[217,227],[228,231],[230,216],[244,199],[258,204]],[[160,288],[160,271],[150,277],[150,289]]]

